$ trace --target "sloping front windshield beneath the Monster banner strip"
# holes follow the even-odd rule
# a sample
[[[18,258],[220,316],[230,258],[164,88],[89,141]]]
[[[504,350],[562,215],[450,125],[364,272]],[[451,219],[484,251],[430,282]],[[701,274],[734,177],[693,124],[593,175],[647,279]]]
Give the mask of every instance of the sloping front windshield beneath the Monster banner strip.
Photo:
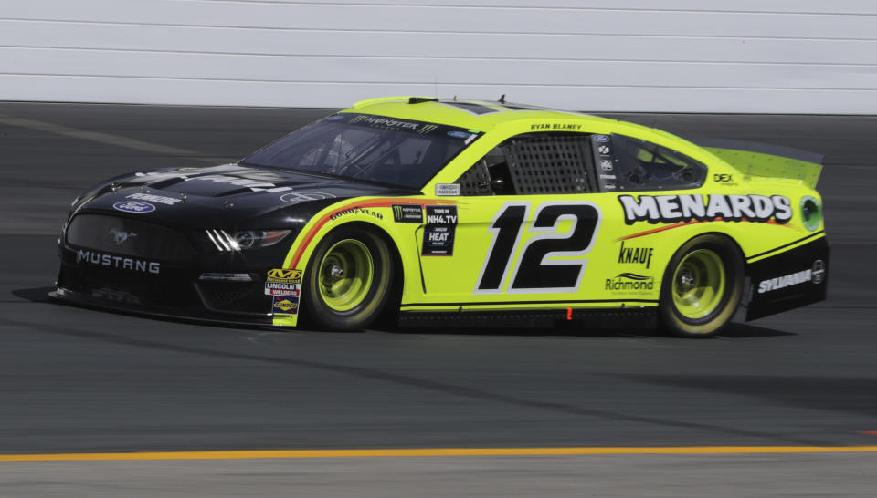
[[[419,189],[480,134],[422,121],[342,113],[293,131],[241,164]]]

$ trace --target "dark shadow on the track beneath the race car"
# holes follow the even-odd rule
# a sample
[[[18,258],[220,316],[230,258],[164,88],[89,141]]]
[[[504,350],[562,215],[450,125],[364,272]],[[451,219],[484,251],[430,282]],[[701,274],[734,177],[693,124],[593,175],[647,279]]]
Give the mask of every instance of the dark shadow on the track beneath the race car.
[[[210,327],[251,329],[251,330],[273,330],[280,331],[277,327],[246,325],[246,324],[223,324],[217,322],[206,322],[196,318],[185,318],[176,316],[154,316],[145,313],[137,313],[126,310],[105,309],[96,306],[83,306],[75,303],[61,301],[48,296],[49,292],[55,290],[55,287],[32,287],[26,289],[15,289],[12,295],[33,303],[44,303],[54,306],[76,307],[83,309],[94,309],[100,313],[111,313],[120,316],[140,316],[147,317],[160,322],[168,323],[191,323],[195,325],[207,325]],[[306,330],[306,329],[299,329]],[[530,337],[615,337],[615,338],[643,338],[654,337],[667,340],[679,339],[679,337],[668,337],[658,330],[648,328],[588,328],[577,322],[558,322],[555,327],[460,327],[458,324],[449,323],[447,326],[432,325],[429,327],[400,327],[388,320],[377,326],[369,327],[369,331],[383,332],[389,334],[435,334],[435,335],[471,335],[471,336],[530,336]],[[337,333],[333,331],[314,331],[317,333]],[[746,339],[760,337],[782,337],[797,336],[793,332],[777,330],[776,328],[758,327],[745,323],[732,323],[726,327],[720,334],[715,337],[704,337],[701,340],[709,340],[716,338],[730,339]]]

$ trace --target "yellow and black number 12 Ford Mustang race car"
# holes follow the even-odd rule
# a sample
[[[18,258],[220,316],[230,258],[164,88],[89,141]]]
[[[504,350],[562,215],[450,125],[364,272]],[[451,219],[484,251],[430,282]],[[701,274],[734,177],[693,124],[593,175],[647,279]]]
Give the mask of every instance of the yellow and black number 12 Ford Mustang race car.
[[[280,327],[683,337],[825,299],[821,156],[694,141],[504,98],[365,100],[238,163],[81,194],[53,296]]]

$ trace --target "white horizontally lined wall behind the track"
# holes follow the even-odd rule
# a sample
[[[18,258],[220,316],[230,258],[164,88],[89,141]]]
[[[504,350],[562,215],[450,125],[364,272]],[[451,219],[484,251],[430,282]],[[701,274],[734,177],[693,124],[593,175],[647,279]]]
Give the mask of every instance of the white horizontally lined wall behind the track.
[[[0,0],[0,100],[344,107],[436,88],[877,114],[877,2]]]

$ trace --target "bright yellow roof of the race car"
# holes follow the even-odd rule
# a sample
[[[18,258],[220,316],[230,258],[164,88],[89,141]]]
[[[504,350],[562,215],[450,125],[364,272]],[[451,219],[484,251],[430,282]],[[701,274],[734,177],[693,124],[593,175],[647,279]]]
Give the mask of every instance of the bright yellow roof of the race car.
[[[435,99],[428,97],[383,97],[356,102],[342,112],[362,112],[396,119],[413,119],[489,131],[498,124],[536,119],[575,119],[576,122],[618,123],[582,112],[547,109],[504,100]],[[638,125],[634,125],[638,126]]]

